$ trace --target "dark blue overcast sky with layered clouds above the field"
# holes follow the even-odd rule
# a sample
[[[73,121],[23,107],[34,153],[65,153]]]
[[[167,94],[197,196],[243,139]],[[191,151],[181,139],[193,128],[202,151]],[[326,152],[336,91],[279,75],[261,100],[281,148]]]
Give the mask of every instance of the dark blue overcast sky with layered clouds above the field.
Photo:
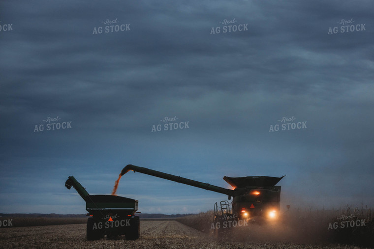
[[[67,177],[110,194],[127,164],[225,188],[225,175],[286,175],[281,208],[373,208],[373,10],[372,0],[1,1],[0,213],[86,213]],[[48,117],[65,129],[47,130]],[[165,117],[178,129],[164,130]],[[132,172],[117,193],[142,213],[227,199]]]

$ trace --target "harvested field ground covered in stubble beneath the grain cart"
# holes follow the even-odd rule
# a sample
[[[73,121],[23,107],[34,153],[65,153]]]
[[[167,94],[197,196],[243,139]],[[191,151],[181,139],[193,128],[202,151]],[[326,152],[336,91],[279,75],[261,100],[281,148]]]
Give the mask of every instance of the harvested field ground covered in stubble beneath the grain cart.
[[[236,242],[215,238],[178,221],[140,221],[140,238],[86,240],[86,224],[0,228],[0,248],[134,248],[134,249],[247,249],[247,248],[355,248],[339,245]]]

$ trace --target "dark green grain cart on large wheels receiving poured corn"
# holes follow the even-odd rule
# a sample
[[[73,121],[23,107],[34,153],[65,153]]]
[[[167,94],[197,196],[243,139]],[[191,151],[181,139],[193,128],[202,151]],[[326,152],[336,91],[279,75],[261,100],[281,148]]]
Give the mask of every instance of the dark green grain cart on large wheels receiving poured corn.
[[[134,216],[138,210],[138,201],[117,195],[88,194],[85,188],[74,178],[69,176],[65,187],[71,186],[86,201],[87,240],[97,240],[104,235],[109,237],[125,235],[127,240],[139,238],[139,217]]]

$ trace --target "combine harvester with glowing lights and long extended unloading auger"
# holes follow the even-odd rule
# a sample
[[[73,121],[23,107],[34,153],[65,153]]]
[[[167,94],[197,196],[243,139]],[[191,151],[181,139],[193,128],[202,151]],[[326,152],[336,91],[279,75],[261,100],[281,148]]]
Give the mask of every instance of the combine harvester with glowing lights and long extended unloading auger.
[[[262,216],[268,219],[276,219],[280,210],[280,186],[275,186],[283,177],[271,176],[247,176],[247,177],[223,177],[234,189],[225,189],[208,183],[202,183],[176,175],[163,173],[160,171],[127,165],[122,169],[121,175],[128,171],[140,172],[153,175],[170,181],[187,184],[193,187],[214,191],[221,194],[227,194],[228,199],[232,200],[232,209],[228,201],[220,202],[220,213],[218,204],[215,204],[214,222],[240,221],[255,216]],[[230,223],[231,224],[231,223]],[[224,224],[223,224],[224,225]],[[227,225],[227,223],[226,223]]]

